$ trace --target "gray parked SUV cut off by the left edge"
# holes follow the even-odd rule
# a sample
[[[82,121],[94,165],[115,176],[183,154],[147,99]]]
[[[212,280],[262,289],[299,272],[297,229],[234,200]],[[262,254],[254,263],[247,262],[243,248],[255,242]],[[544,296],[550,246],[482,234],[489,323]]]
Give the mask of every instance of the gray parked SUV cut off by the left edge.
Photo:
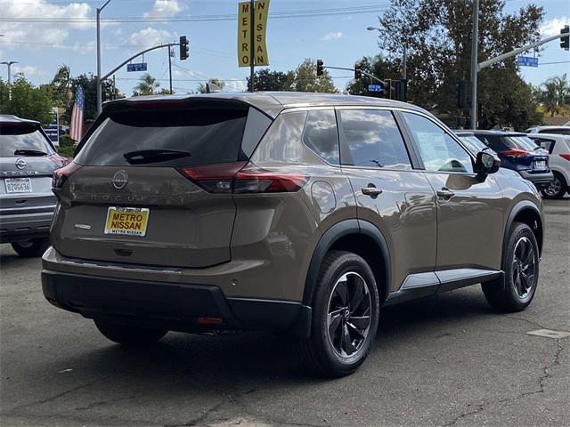
[[[39,256],[49,244],[52,174],[64,165],[38,122],[0,115],[0,242],[21,256]]]

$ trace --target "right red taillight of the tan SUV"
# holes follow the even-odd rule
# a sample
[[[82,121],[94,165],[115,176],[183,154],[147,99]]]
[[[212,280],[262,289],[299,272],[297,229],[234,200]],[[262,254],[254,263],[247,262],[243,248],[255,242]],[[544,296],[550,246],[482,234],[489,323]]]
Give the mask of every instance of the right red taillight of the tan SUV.
[[[210,193],[288,193],[303,187],[300,173],[275,173],[246,162],[183,167],[180,172]]]

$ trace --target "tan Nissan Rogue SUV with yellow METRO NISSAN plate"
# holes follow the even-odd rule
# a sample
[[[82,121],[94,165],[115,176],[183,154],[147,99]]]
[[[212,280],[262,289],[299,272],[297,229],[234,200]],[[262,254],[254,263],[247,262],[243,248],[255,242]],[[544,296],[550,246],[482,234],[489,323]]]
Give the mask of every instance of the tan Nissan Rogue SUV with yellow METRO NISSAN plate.
[[[476,283],[497,309],[531,302],[542,202],[499,165],[395,101],[112,101],[54,173],[44,294],[115,342],[268,329],[346,375],[384,305]]]

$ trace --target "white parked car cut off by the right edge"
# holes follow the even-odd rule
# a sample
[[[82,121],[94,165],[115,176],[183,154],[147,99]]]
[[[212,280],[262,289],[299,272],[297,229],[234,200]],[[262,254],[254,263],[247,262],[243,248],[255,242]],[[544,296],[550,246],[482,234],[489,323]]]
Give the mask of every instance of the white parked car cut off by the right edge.
[[[528,137],[549,152],[549,166],[554,180],[543,188],[547,198],[562,198],[570,184],[570,136],[556,133],[529,133]]]

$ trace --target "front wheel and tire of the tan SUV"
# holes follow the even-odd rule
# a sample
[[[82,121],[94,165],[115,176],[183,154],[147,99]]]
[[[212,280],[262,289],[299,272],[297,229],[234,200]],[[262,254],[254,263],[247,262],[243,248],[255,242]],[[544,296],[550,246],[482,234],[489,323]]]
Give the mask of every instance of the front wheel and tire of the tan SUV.
[[[525,251],[532,250],[532,253]],[[504,286],[501,280],[482,284],[487,302],[495,310],[521,311],[533,301],[538,285],[539,251],[533,230],[515,222],[509,234],[502,260]]]

